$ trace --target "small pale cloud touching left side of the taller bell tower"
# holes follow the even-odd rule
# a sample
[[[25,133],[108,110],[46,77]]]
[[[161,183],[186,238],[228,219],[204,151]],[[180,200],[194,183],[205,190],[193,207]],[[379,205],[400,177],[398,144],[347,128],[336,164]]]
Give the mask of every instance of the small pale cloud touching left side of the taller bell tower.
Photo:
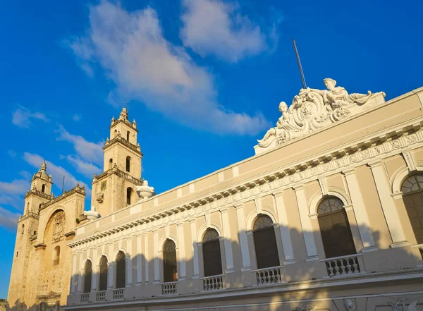
[[[73,148],[78,156],[86,161],[97,164],[103,163],[104,142],[89,142],[82,136],[70,134],[63,126],[59,127],[59,138],[57,140],[66,140],[73,144]]]

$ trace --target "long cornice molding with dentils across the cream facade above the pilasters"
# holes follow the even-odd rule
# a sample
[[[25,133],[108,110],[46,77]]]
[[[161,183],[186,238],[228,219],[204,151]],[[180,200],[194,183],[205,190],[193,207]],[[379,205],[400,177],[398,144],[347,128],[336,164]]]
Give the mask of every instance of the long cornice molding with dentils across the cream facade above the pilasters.
[[[68,245],[73,248],[133,226],[141,225],[141,230],[148,228],[151,230],[154,221],[158,221],[155,226],[161,226],[169,222],[169,216],[174,214],[180,219],[182,217],[197,217],[198,214],[203,214],[213,209],[219,209],[223,212],[222,208],[227,209],[231,206],[240,205],[242,202],[253,200],[258,196],[272,194],[287,188],[300,190],[304,187],[304,183],[317,180],[322,174],[348,172],[356,166],[365,164],[375,165],[381,162],[384,157],[392,155],[392,152],[396,151],[400,154],[402,150],[409,150],[410,147],[421,147],[423,145],[422,124],[423,120],[402,124],[383,133],[364,137],[350,145],[340,146],[333,150],[316,154],[309,159],[303,159],[289,166],[283,166],[276,172],[267,173],[264,176],[245,181],[239,185],[233,185],[231,188],[226,188],[212,195],[198,197],[190,202],[169,207],[165,211],[154,212],[135,221],[130,221],[128,224],[73,241],[68,243]]]

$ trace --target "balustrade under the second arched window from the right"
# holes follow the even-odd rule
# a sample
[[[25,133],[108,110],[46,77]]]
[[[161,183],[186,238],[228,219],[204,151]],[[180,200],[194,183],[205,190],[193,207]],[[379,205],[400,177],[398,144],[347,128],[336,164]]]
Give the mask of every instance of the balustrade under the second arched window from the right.
[[[326,264],[328,276],[341,276],[364,272],[361,254],[333,257],[320,260]]]

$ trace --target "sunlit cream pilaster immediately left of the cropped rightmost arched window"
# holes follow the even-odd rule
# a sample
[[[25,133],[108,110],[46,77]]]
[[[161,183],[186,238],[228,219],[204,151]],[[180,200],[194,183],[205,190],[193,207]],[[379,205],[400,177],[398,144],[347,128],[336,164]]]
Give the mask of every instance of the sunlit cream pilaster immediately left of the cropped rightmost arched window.
[[[388,229],[391,233],[393,241],[391,248],[408,245],[395,202],[393,202],[393,197],[391,196],[391,190],[385,176],[382,162],[381,160],[374,161],[369,163],[369,166],[372,169],[374,182],[376,183],[376,189],[379,194],[379,200],[381,201],[386,223],[388,224]]]

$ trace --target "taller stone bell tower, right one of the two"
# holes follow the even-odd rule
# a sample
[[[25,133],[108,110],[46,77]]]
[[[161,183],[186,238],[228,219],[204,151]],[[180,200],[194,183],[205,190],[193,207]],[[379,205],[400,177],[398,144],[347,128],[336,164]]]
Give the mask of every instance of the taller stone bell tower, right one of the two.
[[[111,119],[110,140],[104,145],[104,171],[92,180],[91,205],[104,217],[135,203],[137,185],[141,185],[140,144],[137,123],[128,120],[123,108],[119,118]]]

